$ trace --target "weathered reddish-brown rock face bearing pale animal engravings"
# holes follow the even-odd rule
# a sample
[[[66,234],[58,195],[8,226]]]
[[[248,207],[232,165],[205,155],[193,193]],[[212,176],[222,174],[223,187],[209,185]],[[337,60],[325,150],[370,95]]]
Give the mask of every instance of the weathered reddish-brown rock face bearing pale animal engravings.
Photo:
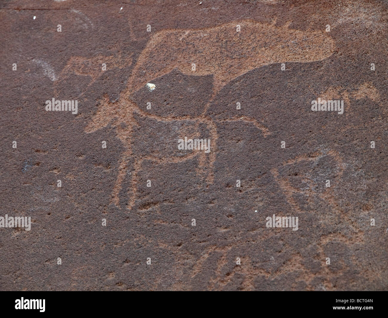
[[[1,289],[386,290],[387,9],[4,2]]]

